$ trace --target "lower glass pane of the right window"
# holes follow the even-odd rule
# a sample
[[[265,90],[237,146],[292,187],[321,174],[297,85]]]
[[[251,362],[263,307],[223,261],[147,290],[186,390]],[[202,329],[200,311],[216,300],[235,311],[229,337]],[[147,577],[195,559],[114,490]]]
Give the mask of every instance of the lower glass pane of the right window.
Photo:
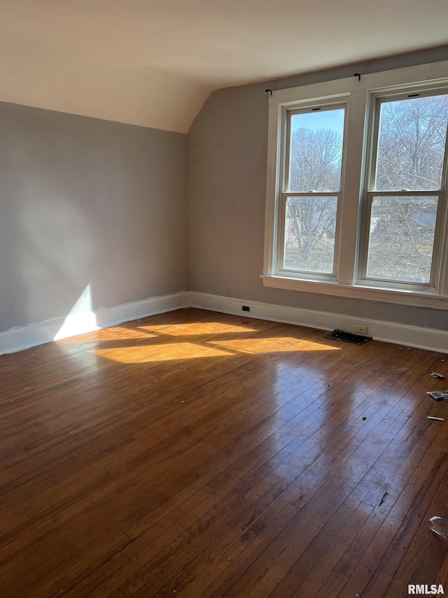
[[[437,197],[375,197],[367,276],[429,283]]]

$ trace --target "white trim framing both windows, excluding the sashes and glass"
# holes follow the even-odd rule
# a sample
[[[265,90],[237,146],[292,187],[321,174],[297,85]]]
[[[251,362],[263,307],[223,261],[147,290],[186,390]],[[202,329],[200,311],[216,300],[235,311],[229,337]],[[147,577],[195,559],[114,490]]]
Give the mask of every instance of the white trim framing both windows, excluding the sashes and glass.
[[[352,79],[338,79],[309,86],[277,90],[269,98],[267,147],[267,182],[265,212],[265,254],[263,285],[279,289],[297,290],[337,297],[353,297],[393,304],[448,309],[448,210],[442,222],[443,247],[437,291],[388,288],[381,283],[358,281],[360,222],[365,181],[367,132],[370,118],[369,102],[374,93],[402,90],[406,86],[442,86],[448,83],[448,61],[421,64],[391,71],[362,75]],[[337,282],[309,280],[277,273],[279,235],[279,194],[281,193],[281,164],[285,144],[282,135],[283,112],[288,107],[300,107],[310,101],[347,100],[347,138],[345,186],[342,197],[342,221]]]

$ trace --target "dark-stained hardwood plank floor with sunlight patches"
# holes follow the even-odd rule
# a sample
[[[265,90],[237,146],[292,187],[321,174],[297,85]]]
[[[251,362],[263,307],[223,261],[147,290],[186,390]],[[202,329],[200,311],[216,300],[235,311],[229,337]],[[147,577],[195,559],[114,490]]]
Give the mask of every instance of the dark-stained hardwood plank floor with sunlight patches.
[[[186,309],[0,357],[0,597],[448,592],[448,355],[324,335]]]

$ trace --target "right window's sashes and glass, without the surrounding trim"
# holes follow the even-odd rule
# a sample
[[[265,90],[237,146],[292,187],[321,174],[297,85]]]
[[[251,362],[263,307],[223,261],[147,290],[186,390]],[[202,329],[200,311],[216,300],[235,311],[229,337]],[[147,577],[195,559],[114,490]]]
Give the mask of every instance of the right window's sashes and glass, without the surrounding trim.
[[[385,97],[375,108],[363,278],[434,286],[448,95]]]

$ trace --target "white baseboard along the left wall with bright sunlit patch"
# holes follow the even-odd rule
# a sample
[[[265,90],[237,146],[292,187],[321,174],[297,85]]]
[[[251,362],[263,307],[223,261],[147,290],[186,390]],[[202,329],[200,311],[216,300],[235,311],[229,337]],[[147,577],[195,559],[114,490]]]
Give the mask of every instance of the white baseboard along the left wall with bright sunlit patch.
[[[30,324],[0,332],[0,355],[15,353],[51,341],[93,332],[100,328],[116,326],[123,322],[146,318],[148,315],[181,309],[190,305],[187,291],[150,297],[142,301],[118,305],[98,311],[87,311],[55,318],[38,324]]]

